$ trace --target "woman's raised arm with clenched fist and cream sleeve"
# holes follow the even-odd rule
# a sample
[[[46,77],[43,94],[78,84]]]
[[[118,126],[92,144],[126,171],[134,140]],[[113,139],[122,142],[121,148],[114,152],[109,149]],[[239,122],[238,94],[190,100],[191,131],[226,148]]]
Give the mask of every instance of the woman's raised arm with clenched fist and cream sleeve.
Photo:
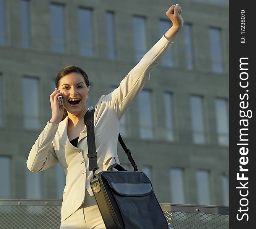
[[[119,119],[129,108],[144,84],[150,79],[150,73],[156,68],[160,60],[164,57],[167,50],[174,43],[178,32],[183,26],[183,18],[180,16],[180,6],[173,5],[167,10],[166,15],[172,21],[172,27],[163,37],[143,56],[139,63],[131,69],[119,87],[109,95],[102,98],[101,102],[107,102],[116,110]]]

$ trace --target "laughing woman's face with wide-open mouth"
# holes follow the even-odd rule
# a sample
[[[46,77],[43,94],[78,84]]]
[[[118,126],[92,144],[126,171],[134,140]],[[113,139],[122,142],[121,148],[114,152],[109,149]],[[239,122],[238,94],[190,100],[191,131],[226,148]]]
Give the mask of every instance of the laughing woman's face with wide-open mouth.
[[[59,88],[65,109],[71,114],[81,114],[86,109],[86,100],[89,95],[89,87],[79,73],[70,73],[59,81]]]

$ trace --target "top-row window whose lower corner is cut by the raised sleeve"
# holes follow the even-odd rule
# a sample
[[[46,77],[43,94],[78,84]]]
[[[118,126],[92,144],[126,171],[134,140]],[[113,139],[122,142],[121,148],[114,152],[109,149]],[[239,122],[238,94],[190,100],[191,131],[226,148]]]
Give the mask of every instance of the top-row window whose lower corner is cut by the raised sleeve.
[[[134,58],[139,62],[146,53],[146,19],[139,16],[133,16],[133,42]]]

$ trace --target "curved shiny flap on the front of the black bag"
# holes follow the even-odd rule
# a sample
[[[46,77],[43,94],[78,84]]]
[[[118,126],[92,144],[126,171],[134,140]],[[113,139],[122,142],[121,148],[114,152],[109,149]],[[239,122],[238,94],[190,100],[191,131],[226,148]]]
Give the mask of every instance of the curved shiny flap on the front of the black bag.
[[[109,185],[119,195],[125,196],[144,196],[152,192],[152,185],[150,182],[140,184],[109,182]]]

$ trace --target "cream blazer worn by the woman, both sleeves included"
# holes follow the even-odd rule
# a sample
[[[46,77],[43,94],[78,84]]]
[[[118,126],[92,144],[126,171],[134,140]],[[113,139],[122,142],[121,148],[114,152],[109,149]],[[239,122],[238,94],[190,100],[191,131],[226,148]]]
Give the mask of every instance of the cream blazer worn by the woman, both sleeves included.
[[[163,36],[144,55],[139,63],[122,80],[120,86],[108,95],[102,95],[95,105],[94,128],[99,170],[106,171],[113,163],[119,163],[117,142],[120,119],[129,108],[144,84],[150,79],[150,73],[170,48]],[[59,124],[47,123],[29,153],[27,166],[32,172],[43,171],[60,163],[66,174],[63,191],[62,221],[68,218],[83,204],[85,190],[92,196],[87,157],[86,126],[80,133],[78,148],[74,147],[67,135],[68,116]]]

